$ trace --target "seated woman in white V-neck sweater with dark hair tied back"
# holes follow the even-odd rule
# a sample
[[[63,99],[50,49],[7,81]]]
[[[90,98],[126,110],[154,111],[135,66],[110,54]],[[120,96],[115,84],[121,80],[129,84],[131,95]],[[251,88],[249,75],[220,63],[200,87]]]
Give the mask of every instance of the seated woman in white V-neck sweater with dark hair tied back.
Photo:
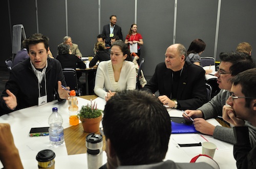
[[[99,63],[94,87],[95,94],[106,101],[115,92],[136,88],[136,69],[133,62],[130,62],[132,59],[127,45],[119,40],[114,42],[110,59]]]

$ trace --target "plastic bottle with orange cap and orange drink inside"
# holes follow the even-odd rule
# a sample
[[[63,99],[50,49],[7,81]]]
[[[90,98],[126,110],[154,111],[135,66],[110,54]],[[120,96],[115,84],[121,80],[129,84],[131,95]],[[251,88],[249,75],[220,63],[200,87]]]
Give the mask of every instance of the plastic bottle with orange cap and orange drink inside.
[[[69,98],[69,124],[76,126],[79,124],[78,114],[78,100],[76,97],[76,92],[74,90],[70,91]]]

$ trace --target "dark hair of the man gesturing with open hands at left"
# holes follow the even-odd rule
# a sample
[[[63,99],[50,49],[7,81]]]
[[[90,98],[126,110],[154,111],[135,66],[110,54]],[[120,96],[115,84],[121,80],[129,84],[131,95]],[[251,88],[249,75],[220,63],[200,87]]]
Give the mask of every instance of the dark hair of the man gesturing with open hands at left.
[[[26,48],[27,48],[28,52],[29,52],[29,45],[31,45],[31,44],[35,45],[35,44],[38,44],[40,42],[45,44],[45,48],[46,48],[46,51],[47,51],[48,47],[49,47],[49,38],[45,35],[33,34],[29,38],[24,40],[24,43],[26,45]]]

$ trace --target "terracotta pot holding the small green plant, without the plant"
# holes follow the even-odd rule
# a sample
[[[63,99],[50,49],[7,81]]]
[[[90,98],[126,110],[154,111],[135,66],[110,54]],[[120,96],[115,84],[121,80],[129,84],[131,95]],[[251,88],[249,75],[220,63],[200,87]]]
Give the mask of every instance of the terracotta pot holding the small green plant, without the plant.
[[[94,119],[85,119],[80,117],[83,131],[87,133],[96,133],[97,131],[99,131],[99,124],[101,119],[102,119],[102,115]]]

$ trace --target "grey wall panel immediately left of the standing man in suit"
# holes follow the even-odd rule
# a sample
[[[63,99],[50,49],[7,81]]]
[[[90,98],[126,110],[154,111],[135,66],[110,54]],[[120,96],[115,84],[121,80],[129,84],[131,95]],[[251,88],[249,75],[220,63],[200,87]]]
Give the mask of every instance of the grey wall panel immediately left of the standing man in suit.
[[[78,44],[84,57],[93,55],[97,41],[99,15],[98,1],[68,1],[68,34]]]

